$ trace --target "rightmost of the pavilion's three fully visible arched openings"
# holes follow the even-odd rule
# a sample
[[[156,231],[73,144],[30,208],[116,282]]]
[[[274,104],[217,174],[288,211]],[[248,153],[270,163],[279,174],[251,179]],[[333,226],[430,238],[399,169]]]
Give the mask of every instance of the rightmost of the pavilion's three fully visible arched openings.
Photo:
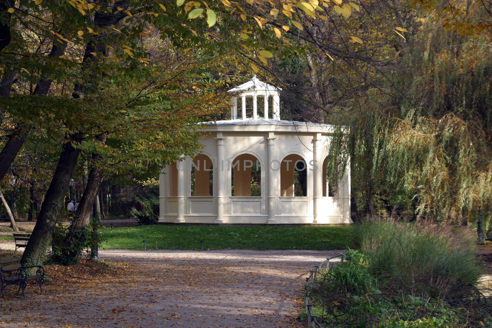
[[[298,154],[290,154],[280,163],[280,196],[307,196],[307,165]]]

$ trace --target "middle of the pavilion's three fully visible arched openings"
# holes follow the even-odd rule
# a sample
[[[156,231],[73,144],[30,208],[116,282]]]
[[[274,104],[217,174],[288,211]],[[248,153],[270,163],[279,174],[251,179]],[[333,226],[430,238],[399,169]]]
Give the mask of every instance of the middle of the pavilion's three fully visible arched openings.
[[[261,196],[261,165],[251,154],[241,154],[232,161],[232,196]]]

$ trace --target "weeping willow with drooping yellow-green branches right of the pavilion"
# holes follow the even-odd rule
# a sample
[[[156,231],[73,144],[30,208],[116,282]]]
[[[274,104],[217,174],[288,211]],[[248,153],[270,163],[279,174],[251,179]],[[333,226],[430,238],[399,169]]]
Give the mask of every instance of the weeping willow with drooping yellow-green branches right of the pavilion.
[[[335,134],[331,166],[343,168],[350,159],[352,188],[365,214],[405,205],[421,217],[456,223],[474,221],[480,206],[487,225],[492,44],[419,14],[414,22],[422,24],[399,50],[399,63],[384,77],[370,77],[381,87],[366,88],[332,111],[329,121],[350,134],[342,128]]]

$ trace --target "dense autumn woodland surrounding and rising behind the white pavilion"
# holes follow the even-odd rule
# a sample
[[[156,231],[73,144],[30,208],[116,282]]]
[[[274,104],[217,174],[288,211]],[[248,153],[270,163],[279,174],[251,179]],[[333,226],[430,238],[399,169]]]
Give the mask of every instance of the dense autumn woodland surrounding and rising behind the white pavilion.
[[[350,129],[329,178],[350,158],[354,219],[481,207],[492,230],[488,0],[0,2],[1,190],[15,176],[15,217],[48,218],[38,245],[70,178],[78,228],[97,195],[102,217],[155,195],[199,151],[188,123],[225,118],[254,73],[283,88],[282,119]]]

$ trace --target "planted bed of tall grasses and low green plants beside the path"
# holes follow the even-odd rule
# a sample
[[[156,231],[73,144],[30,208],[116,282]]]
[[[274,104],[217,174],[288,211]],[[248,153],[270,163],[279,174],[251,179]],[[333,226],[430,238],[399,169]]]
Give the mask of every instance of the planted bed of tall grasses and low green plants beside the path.
[[[322,271],[309,298],[331,327],[487,327],[473,241],[452,229],[364,223],[360,249]]]

